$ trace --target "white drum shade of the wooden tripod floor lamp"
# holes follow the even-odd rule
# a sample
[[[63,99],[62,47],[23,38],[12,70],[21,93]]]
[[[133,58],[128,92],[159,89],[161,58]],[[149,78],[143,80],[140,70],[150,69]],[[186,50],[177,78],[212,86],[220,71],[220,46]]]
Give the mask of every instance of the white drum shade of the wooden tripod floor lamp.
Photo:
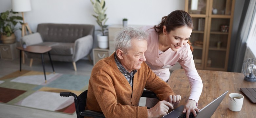
[[[31,11],[30,0],[11,0],[11,5],[15,12]]]

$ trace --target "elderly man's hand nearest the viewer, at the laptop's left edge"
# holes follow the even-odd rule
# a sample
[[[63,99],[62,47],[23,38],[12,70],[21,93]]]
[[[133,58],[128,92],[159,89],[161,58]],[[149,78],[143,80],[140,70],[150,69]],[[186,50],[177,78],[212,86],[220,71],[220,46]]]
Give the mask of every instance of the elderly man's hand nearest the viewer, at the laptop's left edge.
[[[169,108],[173,109],[171,103],[165,100],[159,101],[153,108],[148,109],[148,118],[158,118],[161,115],[166,115]]]

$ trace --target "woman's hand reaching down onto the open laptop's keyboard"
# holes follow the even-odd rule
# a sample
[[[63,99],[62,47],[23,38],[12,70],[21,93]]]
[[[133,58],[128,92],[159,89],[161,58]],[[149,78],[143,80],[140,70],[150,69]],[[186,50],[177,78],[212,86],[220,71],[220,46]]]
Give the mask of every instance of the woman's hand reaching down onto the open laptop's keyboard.
[[[184,106],[184,110],[182,111],[182,113],[186,113],[186,118],[189,118],[189,114],[191,112],[194,114],[194,116],[196,116],[196,112],[199,112],[199,109],[196,106],[196,101],[189,99]]]

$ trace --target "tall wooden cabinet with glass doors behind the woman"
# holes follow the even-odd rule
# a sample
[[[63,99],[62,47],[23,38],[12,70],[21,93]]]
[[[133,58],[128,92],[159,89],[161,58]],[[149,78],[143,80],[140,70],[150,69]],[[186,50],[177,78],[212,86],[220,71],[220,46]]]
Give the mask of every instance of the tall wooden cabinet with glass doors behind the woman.
[[[185,0],[197,69],[227,70],[234,6],[235,0]]]

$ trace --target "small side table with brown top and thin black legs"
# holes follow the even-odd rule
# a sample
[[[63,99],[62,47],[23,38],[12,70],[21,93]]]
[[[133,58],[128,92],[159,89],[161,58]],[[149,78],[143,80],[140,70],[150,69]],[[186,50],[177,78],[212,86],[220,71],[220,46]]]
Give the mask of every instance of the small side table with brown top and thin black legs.
[[[42,65],[43,65],[43,69],[44,69],[44,78],[45,78],[45,83],[47,82],[46,80],[46,75],[45,75],[45,66],[44,66],[44,53],[48,53],[51,64],[52,64],[52,68],[53,68],[53,62],[52,62],[52,58],[50,55],[50,51],[52,50],[51,47],[46,47],[46,46],[28,46],[26,49],[22,48],[22,47],[16,47],[17,49],[20,50],[20,71],[21,71],[21,52],[31,52],[31,53],[36,53],[36,54],[41,54],[41,60],[42,60]],[[53,68],[53,73],[55,73],[54,68]]]

